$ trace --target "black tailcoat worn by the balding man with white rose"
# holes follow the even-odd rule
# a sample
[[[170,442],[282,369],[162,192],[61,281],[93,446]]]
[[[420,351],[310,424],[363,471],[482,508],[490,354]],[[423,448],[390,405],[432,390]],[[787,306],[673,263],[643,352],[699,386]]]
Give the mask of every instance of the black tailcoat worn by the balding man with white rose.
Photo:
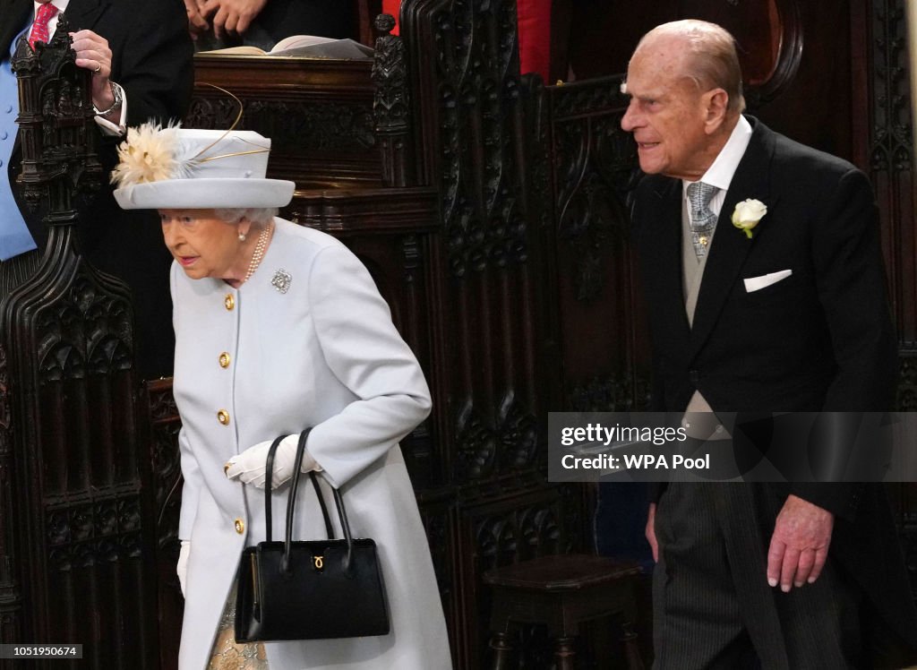
[[[637,187],[634,232],[653,341],[653,408],[683,411],[700,390],[716,412],[888,410],[897,341],[867,177],[749,121],[752,138],[725,195],[693,328],[682,291],[681,182],[647,175]],[[730,220],[746,198],[768,207],[751,240]],[[746,291],[744,279],[781,270],[792,274]],[[834,512],[830,556],[917,645],[917,615],[884,489],[758,486]],[[772,519],[757,521],[768,528]]]

